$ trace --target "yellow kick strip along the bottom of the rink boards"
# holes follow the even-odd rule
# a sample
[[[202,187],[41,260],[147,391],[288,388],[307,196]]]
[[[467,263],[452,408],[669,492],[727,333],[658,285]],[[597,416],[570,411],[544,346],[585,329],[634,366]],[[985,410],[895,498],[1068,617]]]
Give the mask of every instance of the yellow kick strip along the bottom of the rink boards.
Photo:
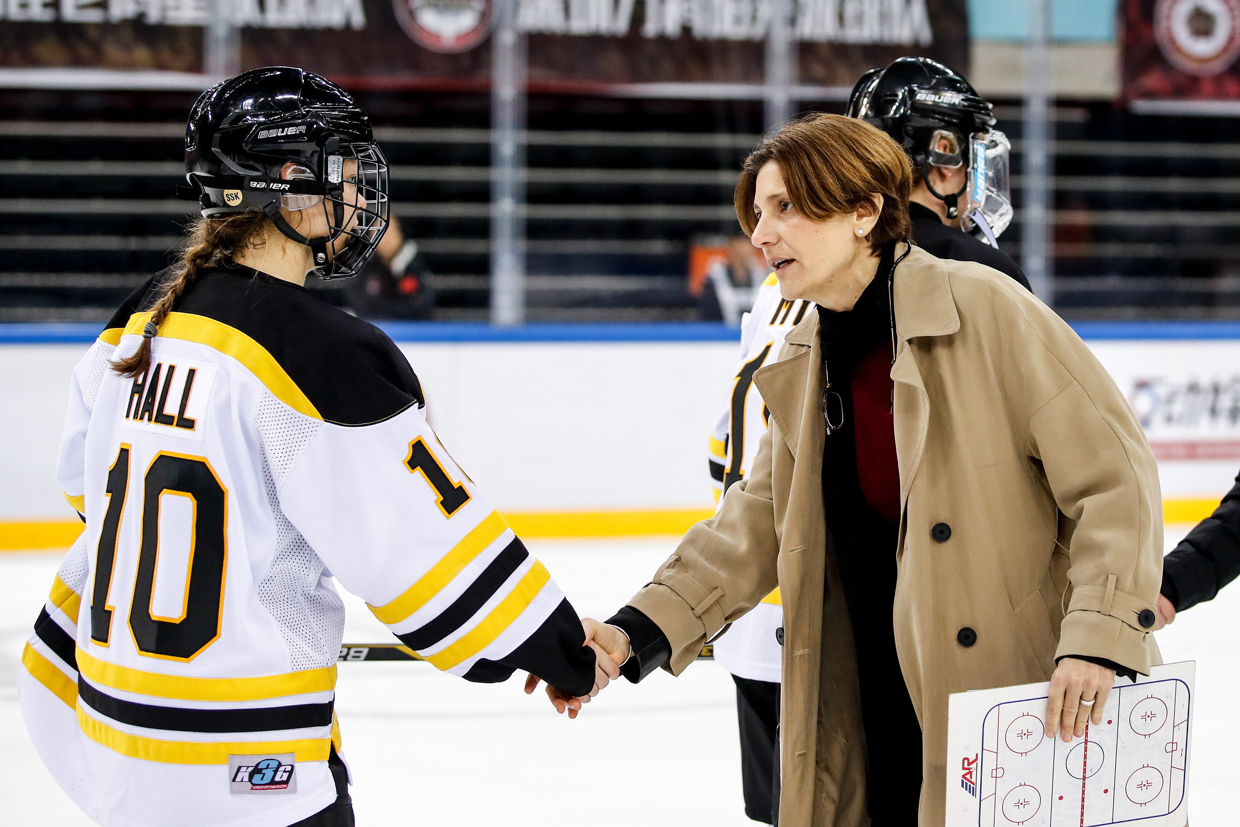
[[[1218,500],[1164,500],[1163,520],[1169,523],[1198,523],[1214,513],[1221,498],[1223,496],[1219,495]],[[526,511],[505,515],[503,520],[518,537],[526,538],[645,537],[652,534],[683,534],[694,523],[709,520],[713,516],[713,508],[678,508],[667,511]],[[81,533],[82,522],[77,520],[0,521],[0,552],[64,549],[72,546]]]

